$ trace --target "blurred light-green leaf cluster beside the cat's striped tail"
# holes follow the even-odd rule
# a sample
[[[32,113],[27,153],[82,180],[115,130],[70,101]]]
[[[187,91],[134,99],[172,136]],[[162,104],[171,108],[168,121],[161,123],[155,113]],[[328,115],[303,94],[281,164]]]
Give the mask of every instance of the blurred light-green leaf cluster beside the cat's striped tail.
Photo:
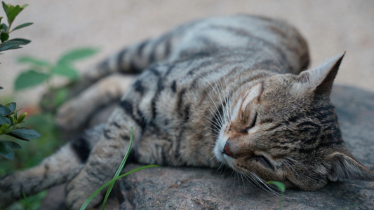
[[[48,82],[53,76],[63,76],[70,82],[79,79],[79,73],[74,68],[74,62],[95,55],[98,52],[95,48],[78,48],[66,52],[58,59],[58,62],[50,62],[31,56],[18,58],[18,62],[29,64],[29,69],[15,79],[15,90],[23,90],[28,87],[34,87],[41,83]],[[50,88],[51,89],[51,88]]]

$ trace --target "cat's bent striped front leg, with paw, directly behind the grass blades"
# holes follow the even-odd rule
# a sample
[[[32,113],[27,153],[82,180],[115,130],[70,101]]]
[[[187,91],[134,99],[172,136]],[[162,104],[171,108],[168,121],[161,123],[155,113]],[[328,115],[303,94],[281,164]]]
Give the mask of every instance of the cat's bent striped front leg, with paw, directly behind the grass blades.
[[[126,109],[119,106],[109,118],[102,137],[91,151],[86,165],[67,185],[65,203],[68,209],[79,209],[89,196],[113,178],[128,150],[131,127],[133,139],[138,141],[143,127],[138,125]],[[95,206],[101,200],[102,195],[96,196],[88,207]]]

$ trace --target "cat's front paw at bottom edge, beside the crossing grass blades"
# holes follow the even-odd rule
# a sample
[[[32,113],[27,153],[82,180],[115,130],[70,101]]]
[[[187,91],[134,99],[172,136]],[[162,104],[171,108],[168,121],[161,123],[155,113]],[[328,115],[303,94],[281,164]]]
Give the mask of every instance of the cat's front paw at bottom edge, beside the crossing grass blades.
[[[100,187],[94,187],[95,184],[89,183],[88,179],[79,179],[77,176],[75,179],[69,182],[66,186],[66,198],[65,205],[68,209],[80,209],[81,206],[86,202],[88,197],[90,197],[95,191]],[[98,193],[90,204],[88,208],[95,207],[102,201],[102,194]]]

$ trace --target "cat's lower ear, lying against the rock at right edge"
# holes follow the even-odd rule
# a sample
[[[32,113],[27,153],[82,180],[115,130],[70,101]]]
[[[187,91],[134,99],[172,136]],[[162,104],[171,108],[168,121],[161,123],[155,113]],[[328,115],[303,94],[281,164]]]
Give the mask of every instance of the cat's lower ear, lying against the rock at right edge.
[[[349,179],[374,181],[374,174],[357,160],[345,153],[335,152],[328,158],[330,181],[343,181]]]

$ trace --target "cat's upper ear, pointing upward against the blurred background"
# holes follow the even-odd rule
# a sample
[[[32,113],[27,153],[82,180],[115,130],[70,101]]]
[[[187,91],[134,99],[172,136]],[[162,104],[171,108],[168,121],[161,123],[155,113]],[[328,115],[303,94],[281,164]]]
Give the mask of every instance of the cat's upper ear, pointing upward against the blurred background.
[[[297,80],[302,83],[302,86],[307,90],[313,90],[315,94],[329,95],[344,55],[345,52],[333,57],[316,69],[303,71],[300,73]]]

